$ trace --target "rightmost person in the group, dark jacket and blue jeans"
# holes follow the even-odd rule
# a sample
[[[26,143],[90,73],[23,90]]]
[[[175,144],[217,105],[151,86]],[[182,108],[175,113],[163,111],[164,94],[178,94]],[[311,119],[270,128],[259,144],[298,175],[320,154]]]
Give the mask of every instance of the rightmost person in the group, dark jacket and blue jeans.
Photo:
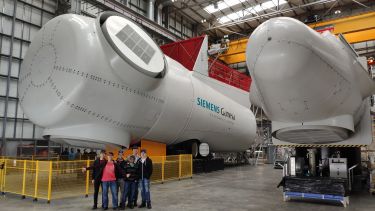
[[[141,150],[141,159],[138,161],[139,189],[142,196],[142,204],[139,208],[151,209],[150,177],[152,175],[152,160],[147,156],[145,149]]]

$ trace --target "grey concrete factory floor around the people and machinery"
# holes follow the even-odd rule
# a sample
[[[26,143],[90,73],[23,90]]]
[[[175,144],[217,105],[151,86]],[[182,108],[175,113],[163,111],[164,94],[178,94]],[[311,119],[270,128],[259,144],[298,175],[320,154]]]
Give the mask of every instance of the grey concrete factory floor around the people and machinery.
[[[152,210],[375,210],[375,196],[367,193],[352,196],[348,208],[335,204],[283,202],[282,190],[276,188],[280,175],[281,170],[275,170],[271,165],[245,166],[195,175],[193,179],[156,184],[151,187]],[[91,205],[91,197],[55,200],[51,204],[21,200],[13,195],[0,198],[0,210],[4,211],[78,211],[90,210]]]

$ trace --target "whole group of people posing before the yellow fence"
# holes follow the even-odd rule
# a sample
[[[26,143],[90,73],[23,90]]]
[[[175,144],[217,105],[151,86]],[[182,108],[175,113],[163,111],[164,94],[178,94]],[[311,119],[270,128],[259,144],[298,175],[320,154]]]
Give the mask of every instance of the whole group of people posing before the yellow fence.
[[[94,206],[97,209],[99,188],[102,187],[102,208],[108,209],[108,191],[111,190],[113,209],[133,209],[137,206],[138,193],[141,192],[142,203],[139,208],[151,209],[150,177],[152,175],[152,160],[147,156],[145,149],[138,155],[138,147],[124,159],[122,150],[117,160],[113,160],[113,153],[101,151],[93,165],[84,167],[83,171],[92,170],[94,184]],[[107,157],[107,159],[106,159]],[[139,191],[138,191],[139,189]],[[120,192],[120,198],[118,198]],[[120,201],[120,203],[119,203]],[[126,205],[126,201],[128,204]]]

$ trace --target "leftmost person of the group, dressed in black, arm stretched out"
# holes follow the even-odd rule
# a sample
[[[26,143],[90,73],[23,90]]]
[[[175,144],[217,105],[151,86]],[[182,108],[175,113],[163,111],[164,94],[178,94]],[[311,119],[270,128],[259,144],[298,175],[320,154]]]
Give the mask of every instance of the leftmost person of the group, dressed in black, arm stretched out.
[[[99,187],[102,185],[103,169],[106,166],[106,164],[107,160],[105,159],[105,151],[102,150],[100,151],[99,158],[96,159],[91,166],[83,168],[83,172],[87,170],[92,170],[92,184],[94,184],[94,206],[92,207],[93,210],[98,208]],[[103,200],[102,207],[104,208]]]

